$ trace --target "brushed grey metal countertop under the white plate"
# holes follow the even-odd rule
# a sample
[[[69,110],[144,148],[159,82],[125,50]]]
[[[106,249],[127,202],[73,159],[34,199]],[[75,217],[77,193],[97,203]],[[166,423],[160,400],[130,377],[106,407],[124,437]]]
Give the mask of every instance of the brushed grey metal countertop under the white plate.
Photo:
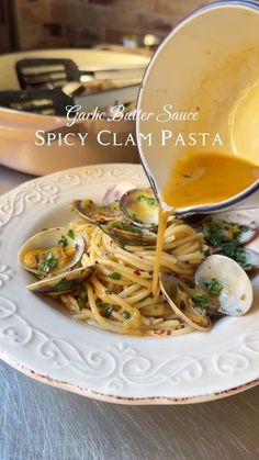
[[[0,167],[0,194],[29,179]],[[0,362],[0,460],[259,459],[259,386],[195,405],[123,406]]]

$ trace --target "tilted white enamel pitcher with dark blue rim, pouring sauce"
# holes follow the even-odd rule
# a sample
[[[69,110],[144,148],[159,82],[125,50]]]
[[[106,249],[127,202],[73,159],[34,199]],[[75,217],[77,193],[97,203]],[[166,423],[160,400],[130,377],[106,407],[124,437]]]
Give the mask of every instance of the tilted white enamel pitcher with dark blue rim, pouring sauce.
[[[146,70],[137,113],[140,159],[160,201],[170,171],[187,148],[235,155],[259,166],[259,4],[211,3],[180,22]],[[176,121],[176,113],[189,119],[196,113],[196,119]],[[179,133],[183,143],[191,133],[198,134],[199,145],[176,145]],[[209,133],[206,145],[201,145],[199,133]],[[259,181],[219,203],[177,212],[234,205],[259,206]]]

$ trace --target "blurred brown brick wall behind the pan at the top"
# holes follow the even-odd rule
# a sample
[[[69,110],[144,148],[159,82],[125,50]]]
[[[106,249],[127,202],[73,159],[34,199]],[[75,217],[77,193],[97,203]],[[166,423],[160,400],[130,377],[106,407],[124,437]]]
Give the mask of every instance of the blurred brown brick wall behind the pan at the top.
[[[206,0],[16,0],[21,49],[160,38]]]

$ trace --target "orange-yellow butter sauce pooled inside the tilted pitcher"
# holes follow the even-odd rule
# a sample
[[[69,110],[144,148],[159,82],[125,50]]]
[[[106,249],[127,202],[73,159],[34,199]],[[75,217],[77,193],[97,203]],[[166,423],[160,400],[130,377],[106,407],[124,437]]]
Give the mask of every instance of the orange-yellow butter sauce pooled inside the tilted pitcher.
[[[178,160],[162,198],[173,209],[218,203],[241,192],[258,177],[259,168],[243,158],[192,154]]]

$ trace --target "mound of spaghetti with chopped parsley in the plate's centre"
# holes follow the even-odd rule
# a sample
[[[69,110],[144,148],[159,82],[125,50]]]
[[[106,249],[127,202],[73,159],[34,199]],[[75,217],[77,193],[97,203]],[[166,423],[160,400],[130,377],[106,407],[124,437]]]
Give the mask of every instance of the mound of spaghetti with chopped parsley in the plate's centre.
[[[177,218],[164,223],[160,247],[120,245],[101,228],[79,220],[70,228],[86,243],[82,267],[97,270],[61,302],[82,322],[117,334],[178,336],[193,332],[161,294],[159,270],[188,279],[204,259],[203,234]],[[158,254],[159,251],[159,254]]]

